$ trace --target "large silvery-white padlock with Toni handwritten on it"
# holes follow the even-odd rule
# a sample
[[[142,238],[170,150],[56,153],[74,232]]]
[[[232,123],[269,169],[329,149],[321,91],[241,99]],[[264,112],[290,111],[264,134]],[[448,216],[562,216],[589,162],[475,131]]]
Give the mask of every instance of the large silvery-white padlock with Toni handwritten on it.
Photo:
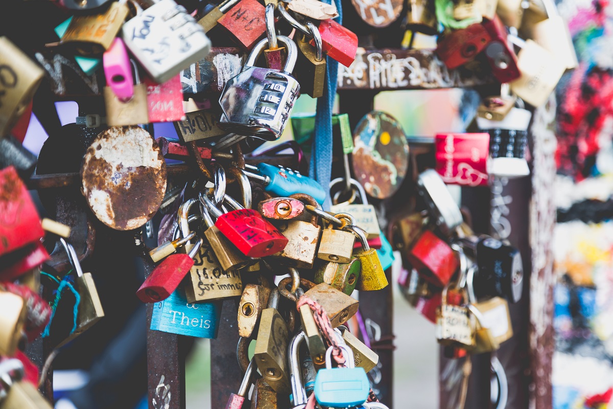
[[[121,28],[126,47],[158,83],[205,58],[211,41],[183,6],[161,0],[137,13]]]

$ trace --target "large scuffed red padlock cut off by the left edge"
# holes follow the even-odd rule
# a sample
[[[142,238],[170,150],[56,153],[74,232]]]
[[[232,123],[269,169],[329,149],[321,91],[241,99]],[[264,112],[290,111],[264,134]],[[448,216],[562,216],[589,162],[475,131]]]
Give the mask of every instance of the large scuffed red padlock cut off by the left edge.
[[[44,234],[36,206],[15,167],[0,170],[0,256]]]

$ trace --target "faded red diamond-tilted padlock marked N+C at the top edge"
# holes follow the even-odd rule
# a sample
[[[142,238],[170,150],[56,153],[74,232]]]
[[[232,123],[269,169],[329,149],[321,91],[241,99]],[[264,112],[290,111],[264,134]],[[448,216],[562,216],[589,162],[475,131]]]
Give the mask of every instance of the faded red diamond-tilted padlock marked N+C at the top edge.
[[[266,32],[265,9],[256,0],[240,0],[217,20],[219,26],[226,29],[238,44],[251,50],[257,40]]]

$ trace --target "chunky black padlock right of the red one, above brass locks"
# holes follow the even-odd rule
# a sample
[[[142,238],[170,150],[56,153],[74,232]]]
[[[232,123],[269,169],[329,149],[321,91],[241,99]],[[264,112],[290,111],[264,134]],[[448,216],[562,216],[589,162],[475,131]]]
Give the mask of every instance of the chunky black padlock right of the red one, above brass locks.
[[[522,298],[524,267],[517,248],[489,236],[481,236],[476,244],[479,267],[474,277],[475,296],[500,296],[509,302]]]

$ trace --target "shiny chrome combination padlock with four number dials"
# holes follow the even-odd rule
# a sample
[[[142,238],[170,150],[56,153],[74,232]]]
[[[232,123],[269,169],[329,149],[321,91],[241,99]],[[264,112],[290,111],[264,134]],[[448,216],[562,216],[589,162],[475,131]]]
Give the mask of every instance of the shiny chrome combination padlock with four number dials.
[[[286,36],[277,36],[285,45],[287,59],[283,71],[254,67],[258,56],[268,48],[268,39],[253,47],[243,71],[226,83],[219,104],[223,115],[219,127],[228,132],[277,140],[283,134],[287,118],[300,96],[300,84],[292,77],[298,49]]]

